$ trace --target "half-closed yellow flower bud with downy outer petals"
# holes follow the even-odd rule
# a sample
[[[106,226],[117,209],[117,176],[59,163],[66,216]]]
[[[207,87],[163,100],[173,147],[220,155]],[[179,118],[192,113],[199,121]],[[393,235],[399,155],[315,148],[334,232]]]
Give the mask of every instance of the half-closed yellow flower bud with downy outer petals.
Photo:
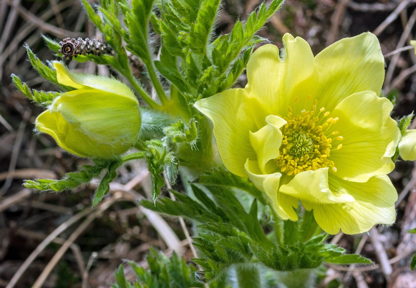
[[[140,129],[139,102],[131,89],[116,79],[71,73],[60,62],[53,67],[58,82],[75,90],[56,97],[36,118],[36,129],[81,157],[126,152]]]

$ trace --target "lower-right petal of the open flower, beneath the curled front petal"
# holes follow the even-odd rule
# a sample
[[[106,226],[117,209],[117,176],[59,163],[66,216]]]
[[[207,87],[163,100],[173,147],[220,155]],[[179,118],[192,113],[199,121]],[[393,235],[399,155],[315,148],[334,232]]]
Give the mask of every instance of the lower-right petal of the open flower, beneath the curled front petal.
[[[376,224],[392,225],[396,218],[394,202],[397,193],[387,176],[376,176],[365,183],[344,181],[330,177],[329,188],[349,194],[355,201],[341,204],[302,204],[313,209],[318,225],[329,234],[340,229],[346,234],[367,232]]]

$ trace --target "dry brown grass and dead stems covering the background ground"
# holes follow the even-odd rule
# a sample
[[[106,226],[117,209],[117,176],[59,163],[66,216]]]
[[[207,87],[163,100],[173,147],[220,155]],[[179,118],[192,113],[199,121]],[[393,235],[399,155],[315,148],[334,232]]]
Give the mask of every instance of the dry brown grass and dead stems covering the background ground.
[[[259,2],[229,0],[218,30],[228,31],[237,17],[244,19]],[[287,0],[261,35],[281,46],[281,36],[291,32],[306,39],[316,53],[340,38],[374,32],[386,55],[384,89],[397,94],[393,116],[399,117],[416,108],[416,56],[408,45],[416,32],[415,8],[415,0]],[[33,134],[40,109],[16,91],[9,77],[15,73],[31,87],[54,89],[30,67],[23,43],[46,61],[56,57],[43,44],[41,33],[58,40],[99,38],[82,10],[77,0],[0,1],[0,287],[109,287],[122,259],[142,261],[149,245],[167,253],[180,251],[186,258],[192,255],[184,223],[167,224],[137,205],[137,199],[149,198],[142,163],[123,168],[109,197],[94,210],[90,204],[96,183],[61,194],[22,187],[22,179],[62,177],[85,163],[57,148],[48,136]],[[92,63],[69,66],[108,72]],[[320,287],[335,278],[346,287],[416,287],[416,279],[409,282],[413,286],[400,282],[403,275],[415,277],[408,274],[406,261],[416,250],[416,239],[405,235],[406,229],[416,227],[413,163],[399,163],[391,177],[399,192],[396,224],[332,239],[376,265],[329,267]]]

